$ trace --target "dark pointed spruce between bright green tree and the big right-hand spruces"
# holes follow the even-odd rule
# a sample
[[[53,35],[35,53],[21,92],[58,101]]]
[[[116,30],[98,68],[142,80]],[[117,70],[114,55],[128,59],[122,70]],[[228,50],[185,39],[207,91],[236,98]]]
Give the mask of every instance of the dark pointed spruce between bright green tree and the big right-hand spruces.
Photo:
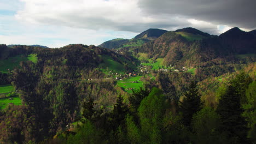
[[[200,94],[196,87],[195,81],[190,82],[189,91],[186,92],[184,96],[185,97],[180,105],[180,110],[183,116],[183,124],[186,126],[190,126],[191,119],[194,113],[202,109]]]

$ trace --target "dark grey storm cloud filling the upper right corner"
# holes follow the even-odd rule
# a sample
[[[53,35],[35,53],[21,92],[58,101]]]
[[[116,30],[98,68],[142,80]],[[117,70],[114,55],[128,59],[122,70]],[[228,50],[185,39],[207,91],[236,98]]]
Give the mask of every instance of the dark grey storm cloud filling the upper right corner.
[[[256,27],[254,0],[140,0],[143,13],[179,15],[220,25]]]

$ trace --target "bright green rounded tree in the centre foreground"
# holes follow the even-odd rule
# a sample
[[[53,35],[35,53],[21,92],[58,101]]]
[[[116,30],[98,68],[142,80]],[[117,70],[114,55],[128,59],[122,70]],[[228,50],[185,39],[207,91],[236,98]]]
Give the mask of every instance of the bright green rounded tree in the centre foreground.
[[[165,96],[158,88],[153,88],[138,108],[141,131],[145,143],[161,143],[163,119],[165,115]]]

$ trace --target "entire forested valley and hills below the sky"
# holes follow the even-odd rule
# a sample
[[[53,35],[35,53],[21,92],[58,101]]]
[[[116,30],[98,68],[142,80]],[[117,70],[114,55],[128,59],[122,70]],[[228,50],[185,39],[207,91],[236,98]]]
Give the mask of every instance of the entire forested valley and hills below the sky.
[[[118,50],[126,39],[0,45],[0,143],[255,143],[255,39],[184,28]]]

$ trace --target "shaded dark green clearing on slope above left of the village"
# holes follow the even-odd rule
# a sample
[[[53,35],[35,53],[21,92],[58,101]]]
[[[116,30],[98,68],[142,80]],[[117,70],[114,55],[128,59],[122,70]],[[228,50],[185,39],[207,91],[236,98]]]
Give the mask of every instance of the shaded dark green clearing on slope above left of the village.
[[[103,63],[99,65],[99,67],[103,67],[107,70],[112,70],[114,73],[124,73],[124,65],[120,64],[110,56],[102,55]]]

